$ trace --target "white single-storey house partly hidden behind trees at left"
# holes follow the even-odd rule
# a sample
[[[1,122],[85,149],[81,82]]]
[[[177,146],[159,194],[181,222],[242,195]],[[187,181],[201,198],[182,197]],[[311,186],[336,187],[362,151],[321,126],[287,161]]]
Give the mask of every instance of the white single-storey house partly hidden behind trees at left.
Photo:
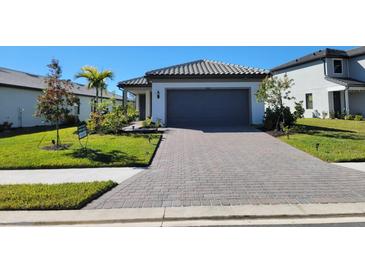
[[[46,87],[45,76],[34,75],[0,67],[0,124],[7,121],[13,127],[40,126],[45,123],[34,116],[37,98]],[[86,121],[91,112],[91,102],[95,91],[74,83],[72,92],[80,99],[70,114],[77,115],[80,121]],[[104,94],[111,98],[112,93]],[[121,96],[115,96],[122,101]]]

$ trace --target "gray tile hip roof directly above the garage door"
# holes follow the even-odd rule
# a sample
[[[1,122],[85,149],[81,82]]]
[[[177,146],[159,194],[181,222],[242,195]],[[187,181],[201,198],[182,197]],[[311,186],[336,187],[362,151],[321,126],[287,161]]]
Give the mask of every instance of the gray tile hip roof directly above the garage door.
[[[268,70],[227,64],[210,60],[197,60],[189,63],[178,64],[165,68],[155,69],[146,73],[149,77],[169,76],[266,76]]]

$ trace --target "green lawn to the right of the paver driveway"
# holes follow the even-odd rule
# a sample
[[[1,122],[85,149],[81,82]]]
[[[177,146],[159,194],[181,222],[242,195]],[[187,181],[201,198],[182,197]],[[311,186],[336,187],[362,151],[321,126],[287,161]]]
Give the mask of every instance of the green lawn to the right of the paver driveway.
[[[313,118],[297,124],[302,126],[300,133],[279,138],[328,162],[365,161],[365,121]]]

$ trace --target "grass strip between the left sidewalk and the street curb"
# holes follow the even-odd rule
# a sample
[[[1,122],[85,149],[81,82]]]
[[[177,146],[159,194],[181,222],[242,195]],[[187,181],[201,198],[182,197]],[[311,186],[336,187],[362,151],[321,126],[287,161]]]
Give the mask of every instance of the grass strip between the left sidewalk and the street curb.
[[[116,185],[112,181],[0,185],[0,210],[79,209]]]

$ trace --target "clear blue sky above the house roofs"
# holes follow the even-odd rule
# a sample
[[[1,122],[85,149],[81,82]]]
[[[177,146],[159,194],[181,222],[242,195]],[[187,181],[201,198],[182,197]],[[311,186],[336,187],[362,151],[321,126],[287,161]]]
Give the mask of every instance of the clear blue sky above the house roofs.
[[[60,60],[63,78],[74,79],[84,65],[111,69],[115,79],[109,82],[111,91],[116,84],[142,76],[144,72],[164,66],[210,59],[258,68],[272,68],[302,55],[325,48],[350,47],[0,47],[0,67],[44,75],[52,58]],[[84,83],[77,80],[79,83]]]

